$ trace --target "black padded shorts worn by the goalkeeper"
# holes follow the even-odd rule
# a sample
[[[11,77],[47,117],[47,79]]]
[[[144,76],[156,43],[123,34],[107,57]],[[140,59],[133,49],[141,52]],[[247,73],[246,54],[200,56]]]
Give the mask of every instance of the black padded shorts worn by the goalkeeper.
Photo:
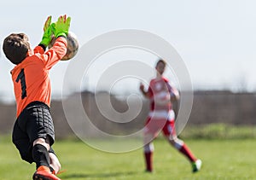
[[[55,142],[55,131],[49,107],[44,102],[31,102],[16,119],[12,135],[22,160],[32,163],[33,142],[46,137],[51,146]],[[54,150],[50,148],[49,152],[54,153]]]

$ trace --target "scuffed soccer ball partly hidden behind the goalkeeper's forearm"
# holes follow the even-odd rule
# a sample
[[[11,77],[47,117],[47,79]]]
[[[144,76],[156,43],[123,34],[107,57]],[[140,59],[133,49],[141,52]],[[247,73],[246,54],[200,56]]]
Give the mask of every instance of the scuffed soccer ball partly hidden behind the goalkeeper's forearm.
[[[51,38],[51,41],[48,45],[48,48],[50,49],[53,44],[55,44],[56,38]],[[73,58],[79,51],[79,42],[77,36],[73,32],[68,32],[67,34],[67,53],[64,55],[61,59],[61,61],[67,61]]]

